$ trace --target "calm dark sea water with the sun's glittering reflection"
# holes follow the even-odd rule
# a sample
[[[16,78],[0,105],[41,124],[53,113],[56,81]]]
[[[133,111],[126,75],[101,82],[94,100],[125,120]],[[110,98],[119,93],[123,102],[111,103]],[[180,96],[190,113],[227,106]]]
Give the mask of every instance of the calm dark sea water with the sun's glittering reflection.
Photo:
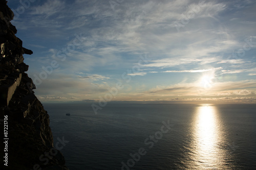
[[[256,168],[256,105],[44,106],[70,170]]]

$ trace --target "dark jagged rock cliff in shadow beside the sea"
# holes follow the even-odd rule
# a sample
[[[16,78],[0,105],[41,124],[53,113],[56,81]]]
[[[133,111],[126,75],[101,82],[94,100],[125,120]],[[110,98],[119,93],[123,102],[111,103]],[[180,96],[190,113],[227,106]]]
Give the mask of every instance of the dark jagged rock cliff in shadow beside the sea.
[[[29,66],[23,62],[23,54],[33,52],[24,48],[22,40],[15,36],[17,30],[10,22],[13,17],[6,0],[0,0],[1,127],[4,127],[4,116],[8,116],[8,166],[5,169],[68,170],[62,154],[53,148],[49,115],[34,95],[35,85],[25,73]],[[2,139],[5,137],[3,134]],[[4,156],[1,155],[2,159]]]

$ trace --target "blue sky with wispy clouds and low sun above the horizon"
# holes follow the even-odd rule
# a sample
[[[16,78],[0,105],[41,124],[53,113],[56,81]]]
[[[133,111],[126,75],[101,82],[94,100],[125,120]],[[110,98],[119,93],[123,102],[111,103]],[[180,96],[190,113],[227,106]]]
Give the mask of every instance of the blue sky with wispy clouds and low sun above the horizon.
[[[9,0],[42,102],[256,103],[256,2]]]

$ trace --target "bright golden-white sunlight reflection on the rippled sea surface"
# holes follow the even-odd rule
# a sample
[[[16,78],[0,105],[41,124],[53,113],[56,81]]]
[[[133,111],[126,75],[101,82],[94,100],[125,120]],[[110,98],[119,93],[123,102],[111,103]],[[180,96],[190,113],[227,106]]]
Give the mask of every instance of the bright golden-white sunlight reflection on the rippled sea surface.
[[[223,159],[226,153],[220,149],[219,144],[223,143],[222,126],[215,106],[204,104],[197,107],[194,115],[194,148],[195,155],[192,155],[193,164],[197,169],[222,169]]]

